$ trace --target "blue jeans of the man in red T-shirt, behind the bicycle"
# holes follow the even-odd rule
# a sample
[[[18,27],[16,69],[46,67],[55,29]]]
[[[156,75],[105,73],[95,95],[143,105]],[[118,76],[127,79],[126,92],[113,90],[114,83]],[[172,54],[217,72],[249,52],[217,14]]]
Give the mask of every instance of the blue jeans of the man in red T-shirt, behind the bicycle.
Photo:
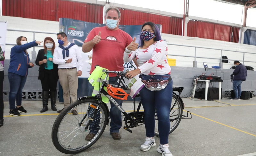
[[[113,84],[114,81],[116,80],[116,77],[109,77],[109,84]],[[115,82],[116,84],[116,82]],[[93,91],[93,86],[91,83],[89,83],[89,96],[92,95],[92,91]],[[115,98],[114,98],[115,99]],[[118,100],[115,99],[115,101],[119,104],[119,106],[122,106],[123,101],[122,100]],[[116,107],[116,105],[112,102],[110,102],[110,110],[109,110],[109,117],[111,119],[110,121],[110,134],[118,132],[119,133],[119,129],[122,127],[122,116],[121,116],[121,111],[118,110],[118,108]],[[100,113],[96,114],[96,119],[99,118]],[[93,134],[96,134],[99,131],[99,123],[96,121],[93,121],[90,124],[90,132]]]

